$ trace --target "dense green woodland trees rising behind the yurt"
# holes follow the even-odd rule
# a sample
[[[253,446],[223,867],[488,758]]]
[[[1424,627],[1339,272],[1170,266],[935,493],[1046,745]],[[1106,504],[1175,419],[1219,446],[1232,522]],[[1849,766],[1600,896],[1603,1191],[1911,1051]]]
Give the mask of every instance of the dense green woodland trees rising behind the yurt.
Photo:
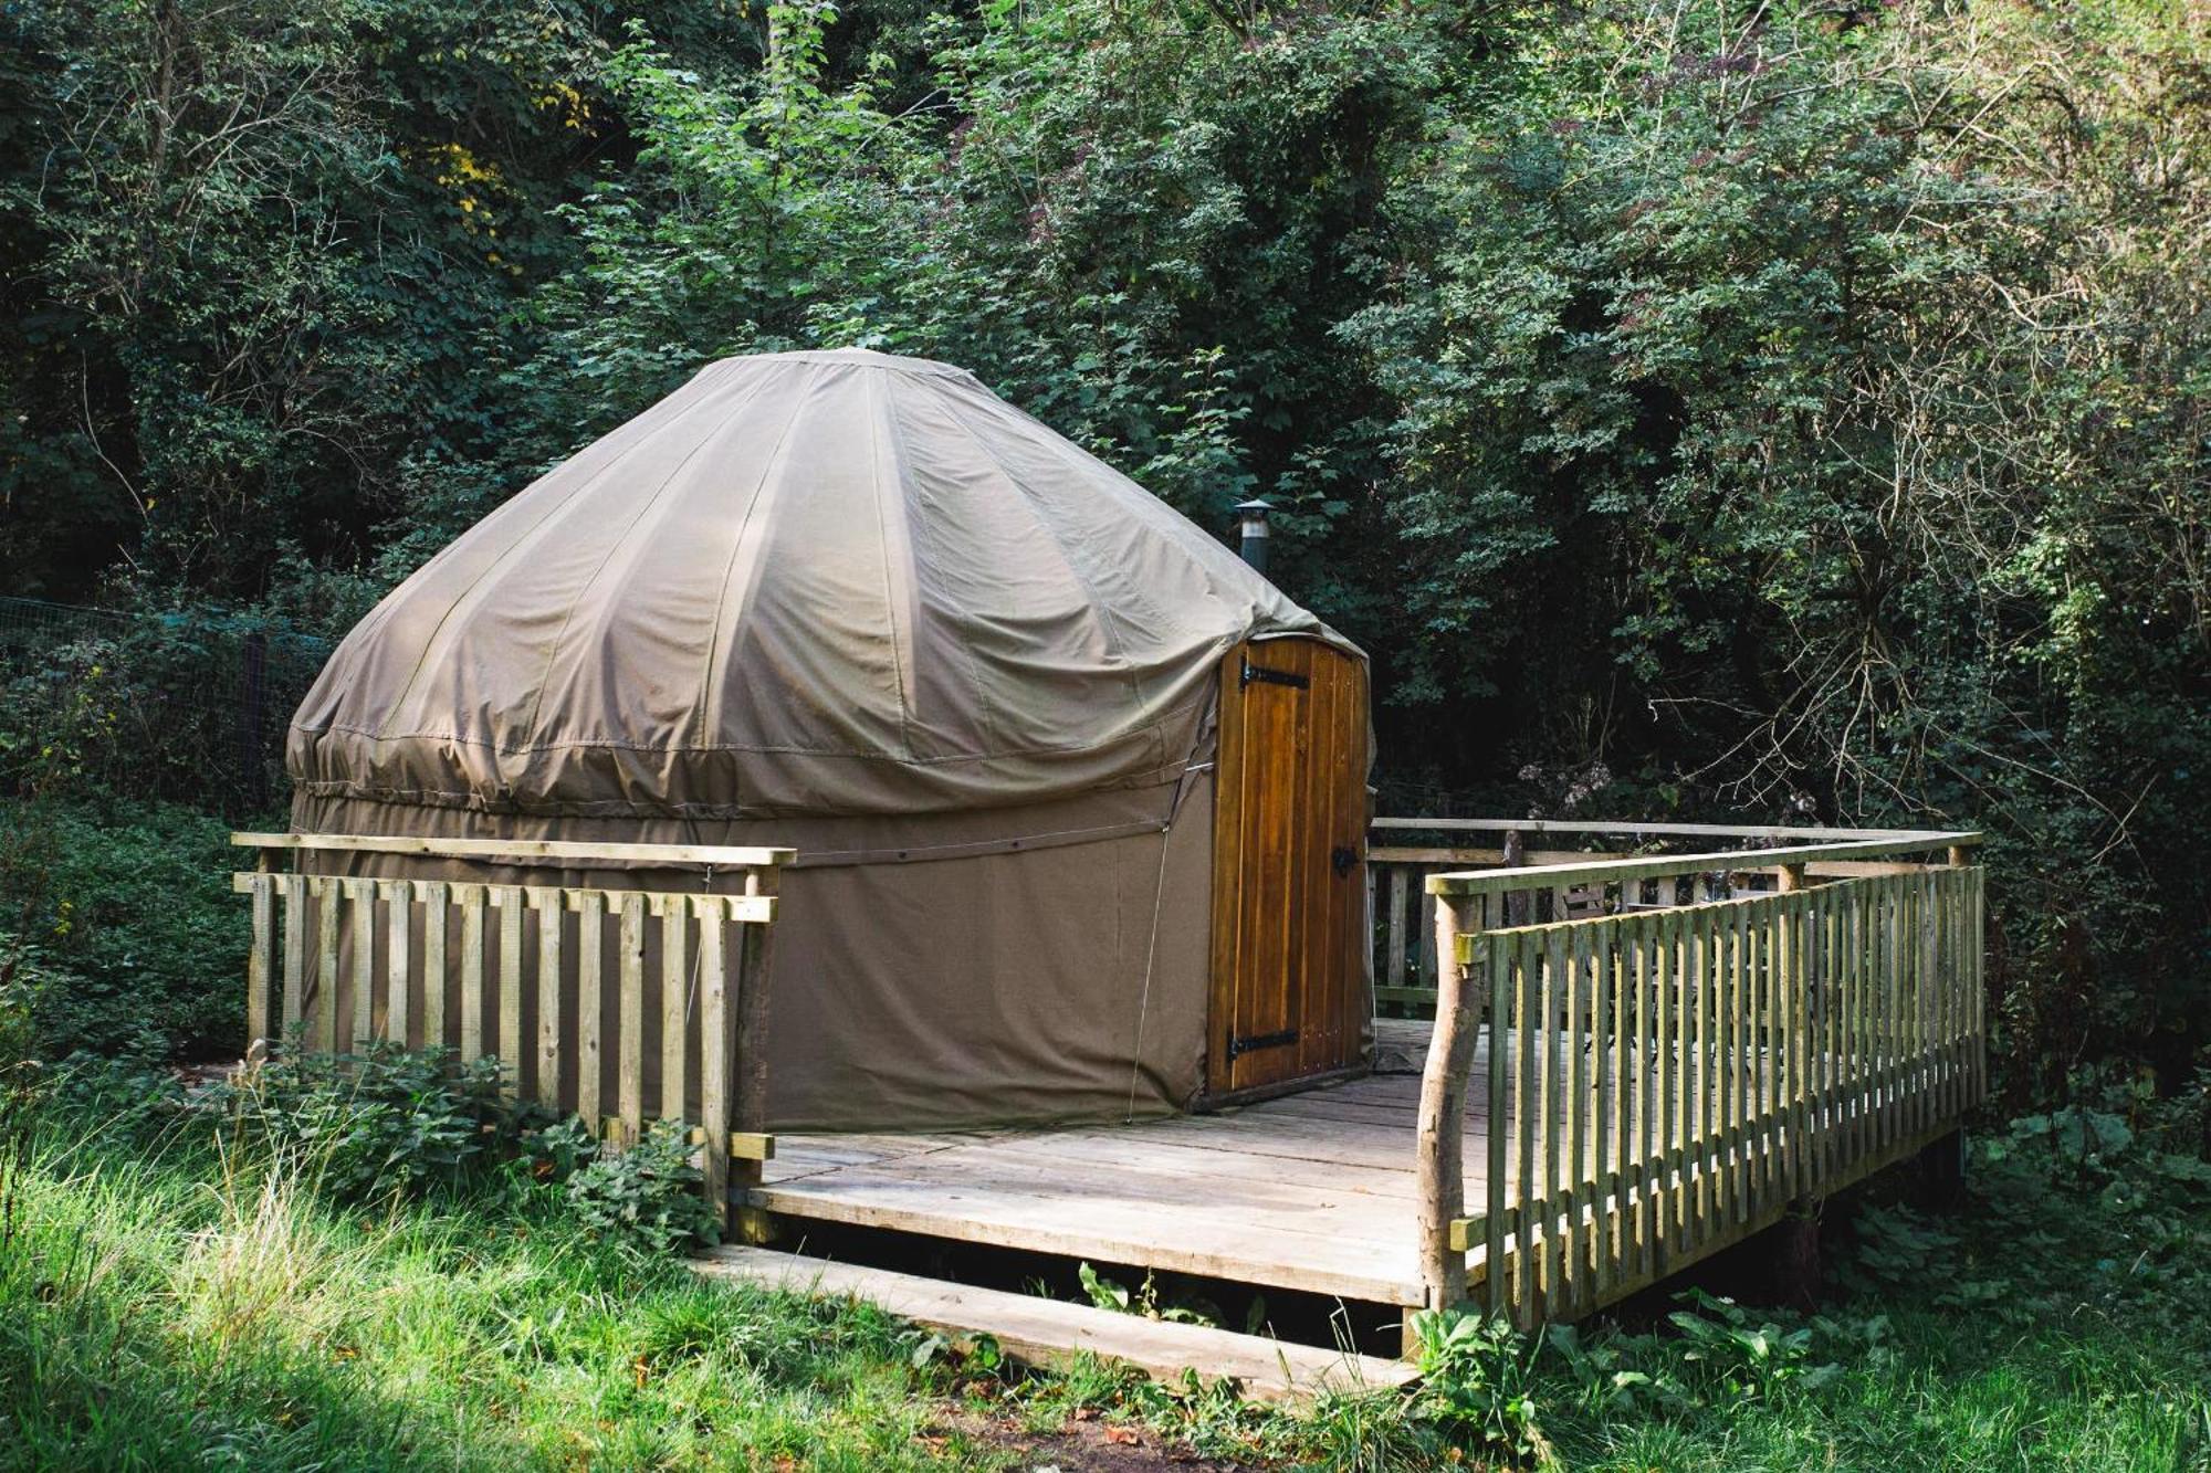
[[[2019,1097],[2211,1017],[2182,0],[24,0],[0,582],[336,633],[699,363],[973,367],[1375,655],[1384,792],[1985,825]]]

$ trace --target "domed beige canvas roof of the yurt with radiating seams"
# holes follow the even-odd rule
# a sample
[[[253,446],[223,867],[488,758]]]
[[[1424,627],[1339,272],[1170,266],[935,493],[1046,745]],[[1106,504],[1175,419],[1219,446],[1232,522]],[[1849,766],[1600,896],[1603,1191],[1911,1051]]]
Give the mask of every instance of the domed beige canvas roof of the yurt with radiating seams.
[[[971,374],[705,367],[394,591],[301,706],[316,798],[920,814],[1172,781],[1309,613]]]

